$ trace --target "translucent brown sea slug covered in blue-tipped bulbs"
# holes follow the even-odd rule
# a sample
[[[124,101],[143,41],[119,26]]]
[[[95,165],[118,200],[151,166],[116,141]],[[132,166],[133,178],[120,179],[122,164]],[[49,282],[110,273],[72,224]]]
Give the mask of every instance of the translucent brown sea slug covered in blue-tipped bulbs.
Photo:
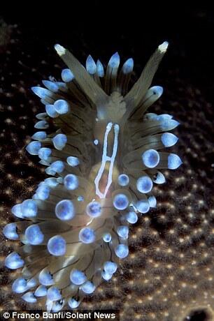
[[[36,115],[38,131],[27,145],[50,177],[13,206],[19,220],[3,228],[22,242],[5,265],[22,268],[12,290],[24,301],[52,312],[73,309],[110,280],[129,254],[129,224],[156,207],[152,188],[165,182],[161,170],[182,163],[162,151],[178,141],[169,133],[178,121],[146,112],[162,95],[162,87],[150,86],[167,47],[159,45],[129,90],[133,59],[119,69],[115,53],[105,70],[88,56],[84,67],[55,45],[67,68],[62,81],[32,88],[45,112]]]

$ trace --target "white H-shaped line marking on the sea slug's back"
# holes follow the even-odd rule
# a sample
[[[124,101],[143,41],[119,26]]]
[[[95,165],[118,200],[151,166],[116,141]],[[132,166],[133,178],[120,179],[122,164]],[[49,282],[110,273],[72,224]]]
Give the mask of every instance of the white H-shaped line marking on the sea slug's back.
[[[114,127],[114,142],[113,142],[113,153],[112,156],[107,156],[107,148],[108,148],[108,134],[110,133],[110,130]],[[99,196],[99,198],[105,198],[106,194],[108,193],[108,188],[110,187],[110,184],[112,183],[112,175],[113,175],[113,165],[115,162],[115,157],[117,155],[117,145],[118,145],[118,135],[119,135],[120,126],[115,124],[113,126],[113,123],[108,123],[106,126],[106,132],[104,135],[104,149],[102,154],[102,160],[101,160],[101,167],[99,168],[99,172],[97,173],[97,177],[94,179],[94,184],[96,187],[96,194]],[[102,175],[104,174],[106,162],[110,162],[109,170],[108,170],[108,179],[107,184],[104,193],[102,193],[99,190],[99,181],[101,180]]]

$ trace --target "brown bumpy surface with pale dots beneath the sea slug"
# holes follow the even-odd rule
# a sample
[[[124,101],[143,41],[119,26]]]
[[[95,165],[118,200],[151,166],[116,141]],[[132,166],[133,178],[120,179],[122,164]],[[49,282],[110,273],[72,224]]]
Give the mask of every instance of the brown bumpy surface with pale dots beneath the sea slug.
[[[13,219],[8,211],[11,204],[29,197],[43,178],[43,169],[25,154],[22,143],[31,134],[32,119],[39,111],[27,88],[41,78],[36,70],[44,70],[35,68],[38,58],[31,59],[27,54],[22,59],[22,51],[15,52],[12,45],[3,54],[8,61],[1,66],[11,70],[3,73],[1,79],[1,111],[5,115],[1,118],[0,134],[2,225]],[[53,54],[49,64],[55,62]],[[44,61],[42,65],[45,66]],[[47,66],[46,76],[49,72]],[[52,72],[59,77],[57,66]],[[167,186],[156,188],[157,209],[132,227],[131,253],[117,276],[101,285],[83,304],[87,308],[119,308],[124,321],[180,321],[191,311],[204,309],[209,315],[214,314],[213,111],[198,89],[180,80],[177,70],[169,72],[164,88],[164,97],[153,111],[170,113],[173,109],[182,123],[178,129],[178,154],[183,158],[183,168],[170,175]],[[29,137],[25,142],[28,140]],[[10,241],[3,243],[2,262],[11,245]],[[1,273],[1,308],[20,307],[17,298],[7,293],[13,277],[15,273]]]

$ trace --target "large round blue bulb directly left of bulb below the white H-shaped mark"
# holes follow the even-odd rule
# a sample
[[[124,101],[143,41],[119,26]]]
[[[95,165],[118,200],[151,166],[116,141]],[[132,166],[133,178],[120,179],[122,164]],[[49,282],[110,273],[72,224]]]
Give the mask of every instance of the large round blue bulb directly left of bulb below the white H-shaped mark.
[[[75,214],[75,207],[71,200],[62,200],[55,207],[55,214],[61,221],[71,220]]]

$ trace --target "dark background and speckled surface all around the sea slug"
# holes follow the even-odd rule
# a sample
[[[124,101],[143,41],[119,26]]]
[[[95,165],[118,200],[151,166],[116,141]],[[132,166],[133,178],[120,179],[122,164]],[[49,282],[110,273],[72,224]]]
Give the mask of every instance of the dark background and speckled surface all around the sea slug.
[[[131,226],[122,268],[82,308],[115,308],[124,321],[214,320],[213,10],[117,4],[1,10],[1,226],[13,221],[13,204],[31,197],[45,178],[44,167],[25,146],[43,109],[30,87],[50,75],[59,79],[64,68],[55,43],[68,47],[82,64],[88,54],[107,63],[118,51],[122,59],[134,59],[137,78],[151,52],[168,40],[153,82],[164,94],[150,112],[173,114],[180,122],[173,152],[183,165],[165,171],[167,184],[156,188],[157,209]],[[16,272],[3,267],[12,246],[1,234],[1,309],[27,308],[10,290]]]

